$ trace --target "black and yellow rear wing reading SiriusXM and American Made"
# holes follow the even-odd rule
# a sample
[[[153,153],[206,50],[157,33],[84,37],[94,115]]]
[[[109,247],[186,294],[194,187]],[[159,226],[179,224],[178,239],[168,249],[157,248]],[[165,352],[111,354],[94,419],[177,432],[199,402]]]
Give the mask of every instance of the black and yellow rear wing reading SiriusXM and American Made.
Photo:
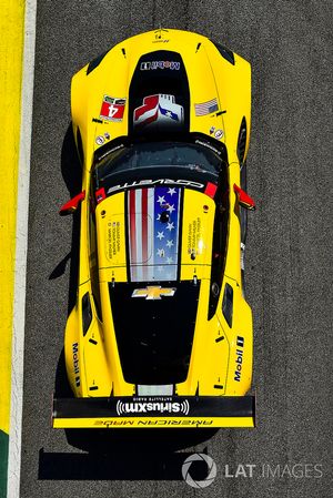
[[[56,429],[255,427],[255,396],[54,398],[52,426]]]

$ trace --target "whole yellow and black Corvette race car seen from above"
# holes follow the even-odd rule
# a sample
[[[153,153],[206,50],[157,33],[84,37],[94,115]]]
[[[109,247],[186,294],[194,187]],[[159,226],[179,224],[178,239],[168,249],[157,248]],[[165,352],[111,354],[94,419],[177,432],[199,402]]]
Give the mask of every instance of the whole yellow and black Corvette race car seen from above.
[[[251,69],[208,38],[130,38],[72,79],[82,192],[71,398],[53,427],[253,427],[243,295]]]

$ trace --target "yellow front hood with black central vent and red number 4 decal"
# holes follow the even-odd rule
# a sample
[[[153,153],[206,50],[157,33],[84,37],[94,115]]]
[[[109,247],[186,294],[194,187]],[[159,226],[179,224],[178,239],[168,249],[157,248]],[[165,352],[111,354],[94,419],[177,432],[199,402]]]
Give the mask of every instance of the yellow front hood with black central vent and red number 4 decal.
[[[154,32],[133,37],[82,70],[95,150],[131,134],[214,130],[219,140],[223,136],[223,115],[215,115],[220,95],[205,48],[211,42],[176,30],[167,35],[163,43]]]

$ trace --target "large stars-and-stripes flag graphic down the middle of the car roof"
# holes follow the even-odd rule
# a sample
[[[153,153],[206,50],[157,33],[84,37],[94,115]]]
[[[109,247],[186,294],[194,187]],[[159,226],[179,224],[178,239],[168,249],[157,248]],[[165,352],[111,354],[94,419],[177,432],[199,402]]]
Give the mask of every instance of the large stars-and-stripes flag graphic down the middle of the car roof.
[[[132,282],[176,280],[180,197],[172,186],[128,192]]]

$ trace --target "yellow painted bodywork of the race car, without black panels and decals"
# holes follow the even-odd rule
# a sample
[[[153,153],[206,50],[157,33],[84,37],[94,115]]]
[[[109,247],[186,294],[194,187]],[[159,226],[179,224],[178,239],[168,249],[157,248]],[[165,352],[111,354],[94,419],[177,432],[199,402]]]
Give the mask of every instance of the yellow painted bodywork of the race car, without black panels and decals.
[[[158,50],[179,51],[180,47],[183,64],[189,77],[191,95],[190,130],[206,136],[212,135],[211,130],[223,131],[221,142],[225,144],[228,150],[230,216],[229,225],[225,225],[224,228],[220,227],[221,232],[222,228],[228,230],[224,268],[215,270],[218,265],[214,265],[212,272],[212,253],[214,252],[215,256],[220,256],[216,241],[214,241],[213,246],[214,230],[215,233],[219,233],[218,223],[216,226],[214,225],[215,203],[210,196],[203,194],[203,186],[201,192],[184,189],[182,221],[180,222],[182,226],[180,280],[193,282],[193,285],[195,285],[195,280],[200,281],[200,297],[188,377],[184,382],[175,385],[175,392],[183,396],[243,396],[251,385],[252,315],[242,295],[240,210],[233,191],[234,184],[240,185],[240,164],[236,149],[243,116],[246,118],[250,131],[251,69],[250,64],[239,55],[235,55],[235,65],[228,62],[211,41],[200,34],[168,30],[165,39],[162,40],[154,32],[148,32],[121,42],[108,52],[103,61],[93,71],[87,74],[88,67],[85,65],[72,79],[71,113],[73,132],[78,144],[82,142],[82,190],[89,192],[81,204],[77,306],[68,319],[64,341],[67,372],[77,397],[102,397],[109,396],[110,393],[113,396],[132,396],[135,393],[135,386],[127,382],[123,376],[111,309],[112,298],[110,302],[112,283],[118,285],[128,282],[127,197],[124,191],[121,190],[123,184],[109,186],[109,196],[102,200],[95,209],[98,243],[88,242],[89,235],[91,235],[91,238],[94,237],[92,203],[90,202],[91,196],[94,195],[90,184],[91,167],[93,154],[101,146],[101,142],[109,141],[109,135],[111,140],[121,140],[121,136],[128,134],[128,122],[131,118],[129,115],[130,82],[140,57],[143,53]],[[214,75],[210,64],[214,68]],[[228,80],[228,82],[224,80]],[[101,119],[105,115],[101,113],[104,95],[125,99],[124,114],[121,121]],[[211,112],[206,115],[198,115],[195,103],[205,103],[212,99],[216,99],[218,109],[222,113]],[[81,138],[80,141],[78,136]],[[248,145],[249,138],[246,150]],[[152,180],[147,177],[140,181],[140,185],[142,187],[152,186],[157,182],[155,179]],[[181,182],[182,179],[179,181]],[[200,190],[200,185],[196,186]],[[220,195],[220,193],[216,193],[216,195]],[[220,206],[219,210],[219,214],[222,214]],[[148,220],[148,223],[153,223],[153,220]],[[222,216],[219,223],[224,223]],[[91,228],[89,228],[89,225]],[[97,266],[99,282],[97,282]],[[223,280],[222,275],[220,278],[218,271],[224,271]],[[213,283],[221,286],[215,305],[213,288],[216,288],[216,285],[212,288]],[[223,296],[226,283],[233,288],[234,296],[233,323],[231,326],[223,316]],[[138,288],[141,288],[140,285],[138,285]],[[99,292],[95,292],[97,289]],[[149,297],[157,297],[160,291],[151,292],[151,295],[145,289],[140,289],[140,293],[144,292],[144,295],[147,293]],[[93,319],[89,331],[83,336],[82,297],[87,293],[89,293],[92,304]],[[93,305],[99,295],[102,323],[99,322]],[[168,299],[172,299],[172,297],[168,297]],[[209,318],[210,299],[213,316]],[[124,308],[122,313],[128,313],[128,311]],[[135,317],[132,319],[134,323]],[[241,337],[243,346],[238,346],[239,337]],[[90,339],[93,339],[93,342]],[[73,345],[77,344],[79,345],[80,374],[74,372],[77,364],[73,364],[77,360],[77,357],[73,358]],[[78,375],[80,376],[79,379],[77,378]],[[78,386],[79,382],[80,385]],[[152,420],[155,421],[157,419],[153,418]],[[173,418],[172,420],[176,426],[178,419]],[[253,426],[253,419],[246,419],[246,417],[223,419],[216,417],[209,420],[213,424],[212,427]],[[95,427],[95,421],[105,424],[107,427],[114,421],[117,424],[119,418],[81,418],[75,420],[56,418],[54,427]],[[153,421],[151,425],[153,425]],[[196,421],[200,420],[194,420],[193,426],[196,425]],[[137,421],[134,420],[133,424],[137,424]],[[163,419],[161,420],[162,424],[164,424]],[[139,425],[138,423],[138,426],[141,427],[143,424]]]

